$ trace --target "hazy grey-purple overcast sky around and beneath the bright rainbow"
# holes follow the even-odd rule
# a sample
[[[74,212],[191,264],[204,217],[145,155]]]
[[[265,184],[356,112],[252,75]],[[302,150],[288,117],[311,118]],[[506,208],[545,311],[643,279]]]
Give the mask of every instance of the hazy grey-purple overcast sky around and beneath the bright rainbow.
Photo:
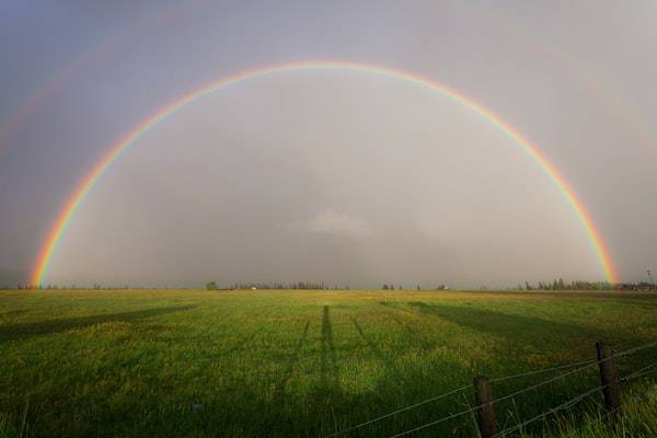
[[[618,278],[657,273],[657,3],[0,2],[0,285],[28,281],[80,182],[180,96],[285,62],[403,70],[531,141]],[[431,288],[603,280],[540,163],[371,71],[262,76],[157,124],[102,175],[45,283]]]

